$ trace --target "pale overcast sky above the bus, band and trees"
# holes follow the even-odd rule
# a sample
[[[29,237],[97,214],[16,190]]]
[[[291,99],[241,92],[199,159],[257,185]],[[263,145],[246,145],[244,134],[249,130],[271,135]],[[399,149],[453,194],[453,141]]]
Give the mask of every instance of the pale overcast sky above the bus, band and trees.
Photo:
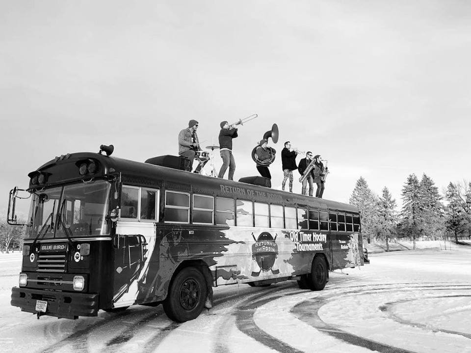
[[[176,155],[188,120],[206,146],[254,113],[236,180],[273,123],[274,188],[287,140],[329,161],[342,202],[360,176],[399,204],[411,173],[469,180],[470,18],[467,0],[0,0],[0,210],[55,156]]]

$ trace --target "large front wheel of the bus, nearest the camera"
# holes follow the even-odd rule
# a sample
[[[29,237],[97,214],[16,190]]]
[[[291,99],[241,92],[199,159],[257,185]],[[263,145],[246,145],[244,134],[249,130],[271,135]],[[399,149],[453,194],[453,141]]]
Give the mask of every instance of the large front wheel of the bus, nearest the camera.
[[[205,277],[194,267],[185,267],[172,281],[163,302],[163,311],[173,321],[183,323],[200,315],[208,296]]]

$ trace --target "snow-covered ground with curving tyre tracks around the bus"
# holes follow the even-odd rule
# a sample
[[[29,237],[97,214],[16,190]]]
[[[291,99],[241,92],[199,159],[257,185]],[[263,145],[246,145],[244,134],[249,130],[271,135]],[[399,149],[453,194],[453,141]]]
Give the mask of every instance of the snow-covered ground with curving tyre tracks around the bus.
[[[395,251],[336,271],[321,292],[295,282],[215,289],[184,324],[161,306],[78,320],[11,307],[20,254],[0,254],[0,352],[471,353],[471,249]]]

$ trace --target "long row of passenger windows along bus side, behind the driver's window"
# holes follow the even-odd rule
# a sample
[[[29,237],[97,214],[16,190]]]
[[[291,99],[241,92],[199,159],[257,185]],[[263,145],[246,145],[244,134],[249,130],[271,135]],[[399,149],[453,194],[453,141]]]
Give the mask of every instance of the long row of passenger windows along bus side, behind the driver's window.
[[[191,210],[191,212],[190,212]],[[360,217],[225,197],[165,191],[165,222],[359,232]],[[191,219],[190,219],[191,217]]]

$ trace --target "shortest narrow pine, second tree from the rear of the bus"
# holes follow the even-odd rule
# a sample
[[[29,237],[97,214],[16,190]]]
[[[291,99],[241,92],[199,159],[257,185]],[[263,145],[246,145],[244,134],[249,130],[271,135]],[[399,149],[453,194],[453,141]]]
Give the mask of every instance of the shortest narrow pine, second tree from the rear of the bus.
[[[396,227],[396,200],[392,198],[387,187],[377,202],[376,236],[386,242],[386,251],[389,251],[389,240],[394,236]]]

